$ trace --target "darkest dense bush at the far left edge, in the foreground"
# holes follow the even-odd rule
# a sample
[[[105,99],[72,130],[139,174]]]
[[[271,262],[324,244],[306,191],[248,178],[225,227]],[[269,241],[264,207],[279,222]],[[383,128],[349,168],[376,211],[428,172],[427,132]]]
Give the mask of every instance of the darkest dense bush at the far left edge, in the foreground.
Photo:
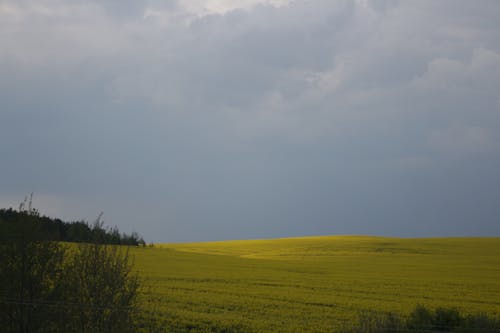
[[[0,327],[3,332],[45,332],[59,299],[66,249],[22,212],[0,223]]]

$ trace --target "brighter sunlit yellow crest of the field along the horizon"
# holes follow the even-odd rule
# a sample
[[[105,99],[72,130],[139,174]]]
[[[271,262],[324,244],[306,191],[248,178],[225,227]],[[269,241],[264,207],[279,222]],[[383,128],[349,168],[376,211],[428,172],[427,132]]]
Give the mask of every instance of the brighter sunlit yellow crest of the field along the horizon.
[[[390,238],[313,236],[263,240],[160,244],[177,251],[259,259],[328,259],[374,254],[489,256],[500,253],[498,238]],[[462,251],[462,252],[461,252]],[[488,252],[490,254],[488,254]]]

